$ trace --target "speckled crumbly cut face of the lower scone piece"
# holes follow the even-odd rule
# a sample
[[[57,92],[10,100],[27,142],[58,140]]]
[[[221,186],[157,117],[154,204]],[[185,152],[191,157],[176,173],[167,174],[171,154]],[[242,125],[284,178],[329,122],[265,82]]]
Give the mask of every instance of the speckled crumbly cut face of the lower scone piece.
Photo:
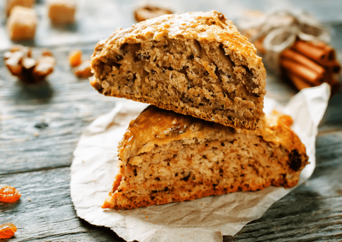
[[[252,132],[216,138],[172,141],[134,157],[136,165],[121,162],[120,179],[104,207],[129,209],[270,185],[288,188],[298,183],[306,165],[305,154]]]

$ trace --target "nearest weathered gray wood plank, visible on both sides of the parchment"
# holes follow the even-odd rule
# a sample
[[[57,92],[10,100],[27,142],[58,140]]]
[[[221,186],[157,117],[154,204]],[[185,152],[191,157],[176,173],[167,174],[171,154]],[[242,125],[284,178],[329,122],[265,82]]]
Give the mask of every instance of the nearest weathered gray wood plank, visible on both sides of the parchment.
[[[317,137],[317,167],[305,184],[224,241],[341,241],[342,148],[331,144],[342,144],[342,131]],[[69,182],[68,167],[0,175],[0,184],[22,193],[20,202],[0,203],[0,222],[18,226],[10,241],[120,241],[111,230],[77,218]]]

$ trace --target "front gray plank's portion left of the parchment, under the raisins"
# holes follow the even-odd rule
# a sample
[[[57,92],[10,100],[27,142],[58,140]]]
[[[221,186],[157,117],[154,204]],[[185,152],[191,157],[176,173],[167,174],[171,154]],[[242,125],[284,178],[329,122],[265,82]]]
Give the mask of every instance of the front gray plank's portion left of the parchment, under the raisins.
[[[69,183],[69,168],[0,175],[0,184],[14,186],[22,194],[15,203],[0,202],[0,223],[12,222],[18,228],[8,241],[123,241],[110,229],[76,216]]]

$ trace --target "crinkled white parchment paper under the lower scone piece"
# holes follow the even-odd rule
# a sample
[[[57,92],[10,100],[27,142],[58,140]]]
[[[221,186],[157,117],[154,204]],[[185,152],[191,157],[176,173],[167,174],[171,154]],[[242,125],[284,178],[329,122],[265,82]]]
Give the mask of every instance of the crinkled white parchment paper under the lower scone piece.
[[[300,183],[314,171],[317,126],[329,96],[329,86],[322,84],[302,90],[285,107],[265,98],[265,112],[277,109],[289,114],[294,120],[294,131],[307,147],[310,165],[302,171]],[[123,99],[112,112],[86,128],[74,151],[71,166],[71,197],[80,218],[94,225],[110,227],[126,241],[221,242],[223,235],[235,235],[246,223],[260,218],[275,201],[293,190],[268,187],[258,192],[209,196],[133,210],[102,209],[117,172],[117,144],[129,121],[145,107],[146,104]]]

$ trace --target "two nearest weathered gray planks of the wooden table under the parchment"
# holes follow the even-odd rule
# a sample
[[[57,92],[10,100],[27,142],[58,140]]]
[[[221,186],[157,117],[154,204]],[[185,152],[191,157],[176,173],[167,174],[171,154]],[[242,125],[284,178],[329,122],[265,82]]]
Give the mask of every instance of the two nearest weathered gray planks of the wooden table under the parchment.
[[[341,53],[342,24],[333,27],[333,44]],[[98,94],[68,65],[70,50],[81,48],[90,56],[94,46],[50,47],[57,66],[38,86],[17,81],[0,60],[0,184],[22,194],[18,202],[0,203],[0,223],[18,227],[4,242],[123,241],[110,229],[78,218],[70,197],[72,152],[85,127],[112,110],[117,100]],[[267,85],[269,97],[285,102],[294,95],[272,75]],[[340,92],[329,102],[319,126],[312,177],[237,235],[225,236],[225,242],[342,241],[341,117]]]

